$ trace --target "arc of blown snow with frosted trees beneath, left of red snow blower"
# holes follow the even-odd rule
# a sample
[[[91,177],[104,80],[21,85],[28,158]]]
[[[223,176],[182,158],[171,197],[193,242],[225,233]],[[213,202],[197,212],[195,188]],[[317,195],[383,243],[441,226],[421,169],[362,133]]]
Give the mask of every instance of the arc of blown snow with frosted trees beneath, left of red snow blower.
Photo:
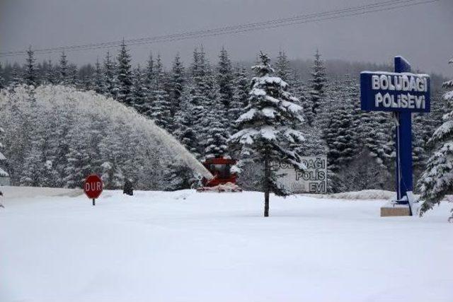
[[[160,189],[168,165],[209,177],[154,122],[93,91],[65,86],[1,91],[0,123],[14,185],[80,187],[86,175],[98,173],[107,188],[132,178],[137,189]]]

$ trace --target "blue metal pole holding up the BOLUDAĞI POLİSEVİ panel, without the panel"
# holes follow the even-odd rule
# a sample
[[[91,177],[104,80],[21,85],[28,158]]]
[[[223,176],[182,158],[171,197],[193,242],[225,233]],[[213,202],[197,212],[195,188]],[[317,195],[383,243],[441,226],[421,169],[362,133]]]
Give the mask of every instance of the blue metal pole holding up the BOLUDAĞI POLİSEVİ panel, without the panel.
[[[395,72],[411,72],[403,57],[395,57]],[[412,191],[412,119],[411,112],[396,112],[396,197],[400,204],[406,192]]]

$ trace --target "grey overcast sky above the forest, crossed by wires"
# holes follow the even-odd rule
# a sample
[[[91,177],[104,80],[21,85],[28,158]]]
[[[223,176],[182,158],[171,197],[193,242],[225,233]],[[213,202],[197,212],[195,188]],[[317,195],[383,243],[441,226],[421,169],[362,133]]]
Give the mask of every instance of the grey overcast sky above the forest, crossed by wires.
[[[217,28],[296,14],[318,13],[384,0],[0,0],[0,52],[151,37]],[[319,48],[327,59],[391,62],[401,54],[414,67],[453,75],[453,0],[394,11],[289,27],[131,47],[134,62],[151,50],[164,63],[177,52],[190,64],[195,45],[217,61],[222,45],[233,60],[253,59],[259,50],[308,59]],[[68,52],[71,62],[96,62],[106,50]],[[116,49],[110,49],[116,53]],[[56,61],[58,54],[38,59]],[[22,57],[0,58],[23,61]]]

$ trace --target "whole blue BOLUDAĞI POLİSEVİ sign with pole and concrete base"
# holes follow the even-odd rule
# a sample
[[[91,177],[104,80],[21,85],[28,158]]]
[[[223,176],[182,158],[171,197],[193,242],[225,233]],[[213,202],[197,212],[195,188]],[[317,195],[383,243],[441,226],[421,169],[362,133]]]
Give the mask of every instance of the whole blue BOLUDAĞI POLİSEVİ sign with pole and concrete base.
[[[395,57],[395,72],[360,74],[362,110],[391,111],[396,120],[396,201],[381,216],[412,215],[412,112],[430,112],[430,77],[411,74],[411,65]]]

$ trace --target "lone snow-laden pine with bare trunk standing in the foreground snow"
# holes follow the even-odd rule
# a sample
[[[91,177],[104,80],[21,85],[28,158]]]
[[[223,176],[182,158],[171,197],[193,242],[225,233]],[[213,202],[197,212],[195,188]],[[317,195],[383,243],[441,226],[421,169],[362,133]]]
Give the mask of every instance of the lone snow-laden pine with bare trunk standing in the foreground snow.
[[[253,66],[257,76],[251,81],[251,91],[246,113],[236,121],[239,132],[230,141],[238,148],[241,158],[236,168],[246,161],[264,164],[264,216],[269,216],[269,194],[290,194],[277,183],[271,161],[280,161],[304,170],[299,153],[294,151],[304,141],[297,125],[303,122],[298,100],[287,92],[287,83],[277,76],[270,66],[267,54],[260,54],[261,64]]]

